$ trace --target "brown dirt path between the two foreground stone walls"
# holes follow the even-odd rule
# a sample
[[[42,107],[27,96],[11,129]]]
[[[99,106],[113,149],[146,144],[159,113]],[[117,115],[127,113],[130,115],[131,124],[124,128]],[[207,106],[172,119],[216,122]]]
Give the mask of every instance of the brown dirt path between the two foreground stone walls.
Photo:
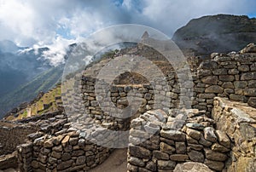
[[[90,172],[126,172],[127,149],[117,149],[110,157]]]

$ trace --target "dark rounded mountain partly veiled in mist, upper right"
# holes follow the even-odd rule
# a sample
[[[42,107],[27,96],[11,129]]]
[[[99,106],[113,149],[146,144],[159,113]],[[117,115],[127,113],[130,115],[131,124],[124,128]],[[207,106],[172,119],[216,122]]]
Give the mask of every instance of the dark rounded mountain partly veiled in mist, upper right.
[[[194,49],[197,54],[238,51],[256,43],[256,19],[230,14],[204,16],[190,20],[172,40],[180,49]]]

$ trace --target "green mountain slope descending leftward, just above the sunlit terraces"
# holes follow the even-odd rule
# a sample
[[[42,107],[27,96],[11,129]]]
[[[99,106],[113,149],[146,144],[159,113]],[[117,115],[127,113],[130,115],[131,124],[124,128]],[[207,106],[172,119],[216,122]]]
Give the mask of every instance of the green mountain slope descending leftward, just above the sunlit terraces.
[[[0,99],[0,118],[3,118],[4,113],[11,108],[19,106],[21,102],[32,100],[40,91],[46,92],[53,88],[61,80],[63,67],[50,68],[47,72],[43,72],[32,79],[31,82],[23,84],[7,95],[3,95]]]

